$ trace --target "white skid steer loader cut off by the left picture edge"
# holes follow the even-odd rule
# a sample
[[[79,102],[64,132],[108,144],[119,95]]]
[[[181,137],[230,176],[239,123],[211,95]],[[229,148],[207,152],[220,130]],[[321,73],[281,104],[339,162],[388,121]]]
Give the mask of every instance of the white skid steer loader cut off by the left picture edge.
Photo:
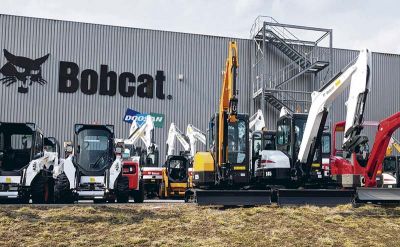
[[[53,201],[52,170],[58,154],[44,150],[34,123],[0,123],[0,198],[21,203]]]

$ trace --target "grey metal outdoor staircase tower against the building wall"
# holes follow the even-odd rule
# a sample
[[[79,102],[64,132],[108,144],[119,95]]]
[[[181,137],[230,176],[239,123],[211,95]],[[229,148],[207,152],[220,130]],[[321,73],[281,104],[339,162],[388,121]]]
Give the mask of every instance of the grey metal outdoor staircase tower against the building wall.
[[[317,38],[300,39],[293,30],[300,30],[303,34],[312,32],[313,35],[308,36]],[[267,103],[277,110],[284,106],[292,111],[307,111],[310,93],[318,88],[315,85],[318,73],[324,71],[325,78],[330,73],[326,68],[332,63],[332,30],[281,24],[272,17],[259,16],[250,33],[256,47],[253,99],[261,100],[261,105]],[[327,39],[328,45],[321,46],[321,42]],[[270,52],[280,54],[286,65],[268,71],[267,67],[276,67],[271,64],[274,59],[267,56]],[[299,80],[309,81],[307,90],[293,90],[291,84]]]

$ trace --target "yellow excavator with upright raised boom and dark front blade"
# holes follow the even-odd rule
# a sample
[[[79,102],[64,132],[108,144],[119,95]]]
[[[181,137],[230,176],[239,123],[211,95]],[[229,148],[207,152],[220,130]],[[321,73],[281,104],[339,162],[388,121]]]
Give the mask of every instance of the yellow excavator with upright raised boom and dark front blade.
[[[236,89],[238,49],[229,43],[219,110],[208,126],[208,152],[197,152],[193,161],[193,189],[186,201],[199,205],[269,204],[270,191],[249,190],[249,116],[239,114]]]

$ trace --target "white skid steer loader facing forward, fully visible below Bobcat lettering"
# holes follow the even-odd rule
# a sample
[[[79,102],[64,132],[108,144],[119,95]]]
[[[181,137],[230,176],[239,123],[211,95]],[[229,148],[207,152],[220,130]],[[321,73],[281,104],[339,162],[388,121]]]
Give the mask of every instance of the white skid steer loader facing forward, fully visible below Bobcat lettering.
[[[128,202],[122,152],[114,146],[113,125],[76,124],[73,147],[67,148],[69,156],[54,169],[55,202]]]

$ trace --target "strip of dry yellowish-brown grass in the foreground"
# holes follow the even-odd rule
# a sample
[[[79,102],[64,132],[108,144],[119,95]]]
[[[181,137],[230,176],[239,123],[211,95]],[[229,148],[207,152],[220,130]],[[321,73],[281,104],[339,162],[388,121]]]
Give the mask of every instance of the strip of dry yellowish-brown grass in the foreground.
[[[400,208],[0,207],[5,246],[399,246]]]

